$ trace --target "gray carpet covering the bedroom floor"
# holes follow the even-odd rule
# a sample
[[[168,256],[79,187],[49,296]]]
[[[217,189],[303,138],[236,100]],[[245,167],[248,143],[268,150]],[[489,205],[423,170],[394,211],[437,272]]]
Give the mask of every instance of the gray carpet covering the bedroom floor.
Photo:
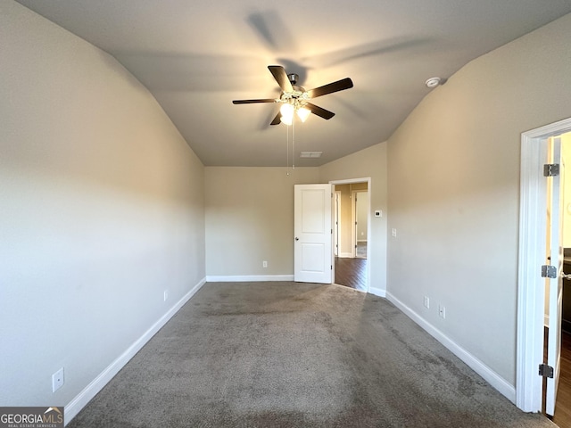
[[[555,425],[387,300],[339,285],[211,283],[68,426]]]

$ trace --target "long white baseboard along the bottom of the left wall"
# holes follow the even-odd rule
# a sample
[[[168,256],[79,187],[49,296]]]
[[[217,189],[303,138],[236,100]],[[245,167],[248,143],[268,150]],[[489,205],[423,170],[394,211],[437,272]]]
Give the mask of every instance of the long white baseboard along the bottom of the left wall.
[[[185,296],[178,300],[178,302],[169,309],[169,311],[164,314],[159,320],[154,323],[136,342],[128,347],[125,352],[123,352],[115,361],[107,366],[103,372],[101,372],[91,383],[89,383],[83,391],[72,399],[67,406],[65,406],[65,424],[69,424],[71,419],[79,414],[79,411],[83,407],[87,406],[87,403],[95,397],[95,395],[103,390],[103,387],[112,380],[113,376],[119,373],[120,369],[125,366],[128,361],[137,354],[141,348],[143,348],[146,342],[149,342],[153,335],[161,330],[161,327],[173,317],[180,308],[182,308],[185,303],[194,296],[194,293],[198,292],[201,287],[206,283],[206,278],[203,278],[198,284],[194,285],[192,290],[187,292]]]

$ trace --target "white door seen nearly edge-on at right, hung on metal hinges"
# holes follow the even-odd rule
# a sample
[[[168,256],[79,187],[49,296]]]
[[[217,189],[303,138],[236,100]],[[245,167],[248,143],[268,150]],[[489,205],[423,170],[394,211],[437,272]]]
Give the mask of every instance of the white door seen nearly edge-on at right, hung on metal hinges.
[[[553,416],[559,385],[559,366],[561,361],[561,304],[563,300],[563,216],[561,202],[563,201],[563,180],[565,173],[561,161],[561,138],[553,138],[552,156],[550,163],[559,165],[559,175],[549,177],[548,203],[550,203],[549,236],[550,265],[557,268],[556,277],[549,279],[549,337],[547,349],[547,364],[553,367],[553,377],[547,378],[545,395],[545,413]]]

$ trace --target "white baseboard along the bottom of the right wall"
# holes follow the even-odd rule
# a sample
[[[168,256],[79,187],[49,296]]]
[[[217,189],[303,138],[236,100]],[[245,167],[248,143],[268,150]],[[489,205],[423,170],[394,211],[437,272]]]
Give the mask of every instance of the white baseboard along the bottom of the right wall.
[[[401,300],[398,300],[390,292],[386,292],[386,298],[391,301],[394,306],[401,309],[408,317],[410,317],[415,323],[420,325],[426,330],[427,333],[432,335],[434,339],[441,342],[448,350],[464,361],[472,370],[477,374],[481,375],[487,383],[490,383],[492,387],[500,391],[507,399],[512,403],[516,403],[516,387],[506,381],[501,375],[495,373],[490,367],[486,366],[478,358],[474,357],[472,354],[462,348],[458,343],[451,340],[446,334],[438,330],[434,325],[431,325],[424,319],[420,317],[415,311],[410,309]]]

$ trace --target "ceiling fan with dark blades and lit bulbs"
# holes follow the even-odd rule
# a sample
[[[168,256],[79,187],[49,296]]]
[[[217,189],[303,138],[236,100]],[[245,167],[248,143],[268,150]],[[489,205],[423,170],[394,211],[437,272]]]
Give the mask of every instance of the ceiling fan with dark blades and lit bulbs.
[[[296,112],[302,121],[305,121],[310,113],[318,115],[323,119],[331,119],[335,116],[333,111],[322,109],[318,105],[310,103],[309,100],[317,98],[321,95],[332,94],[334,92],[343,91],[353,87],[351,78],[342,78],[335,82],[324,86],[316,87],[306,91],[302,86],[296,86],[297,74],[286,74],[284,67],[281,65],[269,65],[269,71],[277,81],[277,85],[281,87],[282,93],[279,98],[263,98],[258,100],[234,100],[235,104],[251,104],[251,103],[281,103],[282,107],[277,112],[276,117],[271,121],[270,125],[278,125],[284,122],[291,125]]]

